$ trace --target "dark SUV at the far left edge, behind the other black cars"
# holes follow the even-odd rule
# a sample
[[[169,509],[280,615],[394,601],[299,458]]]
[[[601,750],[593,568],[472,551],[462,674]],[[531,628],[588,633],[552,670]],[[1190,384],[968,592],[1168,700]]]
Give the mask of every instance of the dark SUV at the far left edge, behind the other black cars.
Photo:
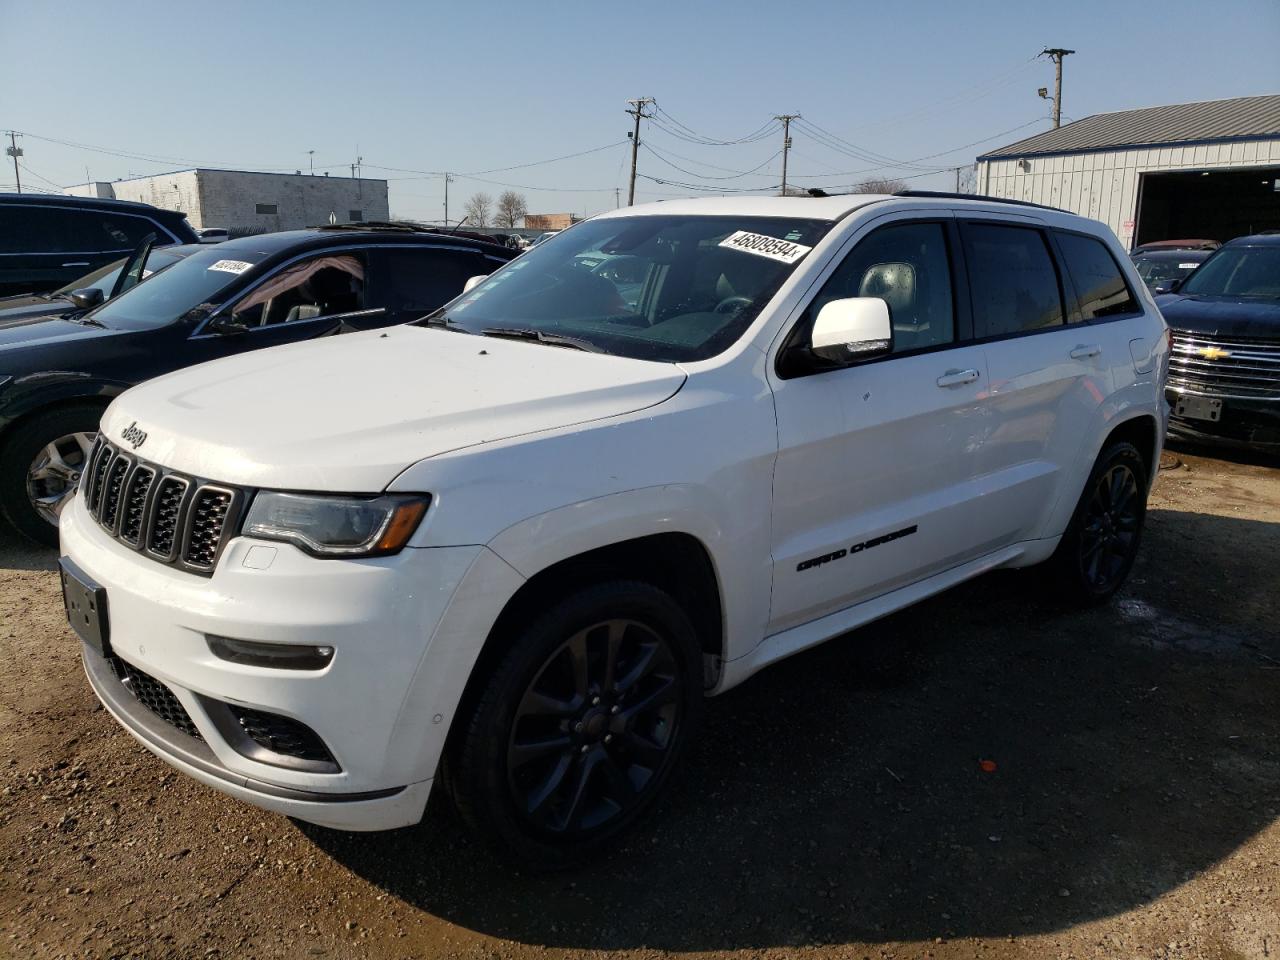
[[[0,193],[0,297],[55,291],[151,234],[157,247],[200,242],[186,214],[150,204]]]

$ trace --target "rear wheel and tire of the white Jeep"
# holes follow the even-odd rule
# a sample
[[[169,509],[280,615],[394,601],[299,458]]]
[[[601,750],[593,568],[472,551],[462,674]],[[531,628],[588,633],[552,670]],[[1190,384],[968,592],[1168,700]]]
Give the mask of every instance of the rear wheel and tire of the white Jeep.
[[[1102,451],[1048,563],[1057,595],[1092,607],[1124,585],[1142,543],[1147,485],[1137,447],[1120,442]]]

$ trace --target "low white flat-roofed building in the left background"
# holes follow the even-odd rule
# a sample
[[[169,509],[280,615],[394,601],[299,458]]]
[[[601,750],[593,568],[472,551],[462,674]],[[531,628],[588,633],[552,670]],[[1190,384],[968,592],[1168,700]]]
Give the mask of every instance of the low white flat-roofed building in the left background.
[[[389,220],[387,180],[196,168],[111,183],[68,187],[68,193],[138,200],[180,210],[191,225],[224,227],[233,237],[300,227]]]

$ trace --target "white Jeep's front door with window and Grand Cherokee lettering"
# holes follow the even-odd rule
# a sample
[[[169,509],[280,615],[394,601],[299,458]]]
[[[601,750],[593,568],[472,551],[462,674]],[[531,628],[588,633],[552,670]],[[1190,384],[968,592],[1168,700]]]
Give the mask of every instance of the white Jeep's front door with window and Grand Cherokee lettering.
[[[881,297],[892,352],[773,383],[773,599],[778,632],[984,553],[998,504],[984,498],[987,362],[968,339],[950,215],[890,219],[823,283],[788,347],[822,303]]]

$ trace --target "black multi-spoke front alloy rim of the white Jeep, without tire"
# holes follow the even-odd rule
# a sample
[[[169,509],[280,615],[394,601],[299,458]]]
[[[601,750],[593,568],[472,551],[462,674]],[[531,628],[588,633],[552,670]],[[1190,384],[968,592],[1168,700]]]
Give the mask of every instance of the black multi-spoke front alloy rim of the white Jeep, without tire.
[[[516,708],[507,782],[516,810],[550,835],[585,835],[625,814],[660,774],[681,722],[671,644],[645,623],[579,630]]]

